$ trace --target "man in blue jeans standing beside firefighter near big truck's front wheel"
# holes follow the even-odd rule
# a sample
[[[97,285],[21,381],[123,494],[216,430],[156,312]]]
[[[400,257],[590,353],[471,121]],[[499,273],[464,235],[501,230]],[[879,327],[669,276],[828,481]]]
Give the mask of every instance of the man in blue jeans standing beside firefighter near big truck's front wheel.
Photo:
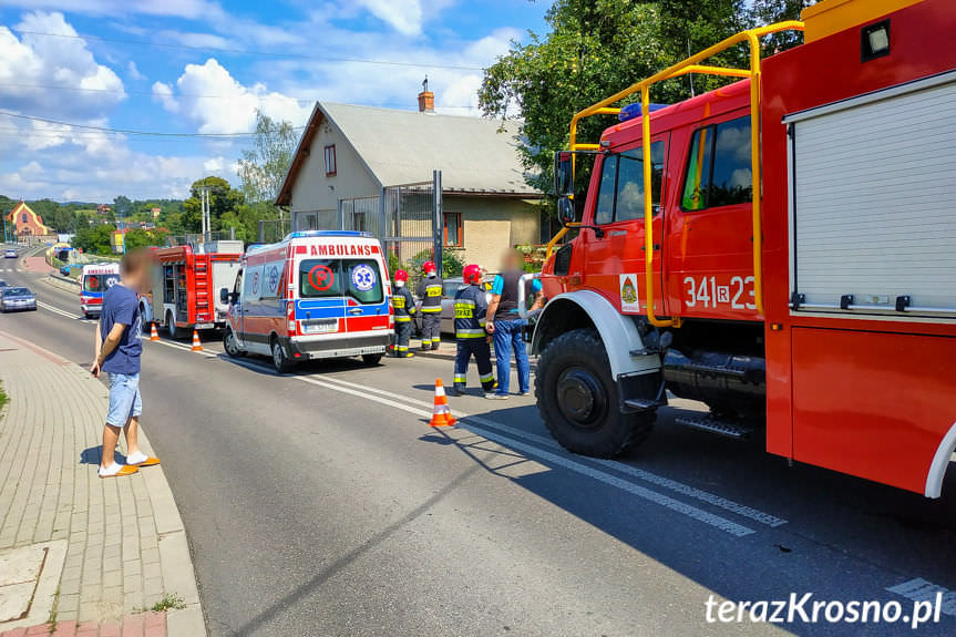
[[[502,271],[494,278],[491,288],[491,302],[487,308],[487,331],[494,337],[494,356],[497,364],[497,391],[487,398],[504,400],[511,380],[511,352],[514,350],[517,361],[518,395],[527,395],[531,391],[531,366],[527,350],[524,347],[522,329],[524,320],[518,315],[517,289],[524,256],[515,249],[505,253],[502,259]],[[542,305],[541,281],[535,279],[526,284],[526,298],[534,298],[531,309]]]

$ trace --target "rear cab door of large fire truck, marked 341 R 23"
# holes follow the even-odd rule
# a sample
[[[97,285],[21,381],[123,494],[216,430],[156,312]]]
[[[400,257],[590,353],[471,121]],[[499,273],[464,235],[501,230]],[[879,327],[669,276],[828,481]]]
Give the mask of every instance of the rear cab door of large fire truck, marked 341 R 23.
[[[671,311],[753,319],[750,117],[689,136],[687,157],[674,171],[680,191],[668,217]]]

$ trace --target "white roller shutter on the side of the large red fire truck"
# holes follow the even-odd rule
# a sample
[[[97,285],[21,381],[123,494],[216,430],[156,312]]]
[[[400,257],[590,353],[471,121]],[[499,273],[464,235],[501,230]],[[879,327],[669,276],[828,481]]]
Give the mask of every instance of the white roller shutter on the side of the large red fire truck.
[[[956,73],[784,122],[801,309],[956,316]]]

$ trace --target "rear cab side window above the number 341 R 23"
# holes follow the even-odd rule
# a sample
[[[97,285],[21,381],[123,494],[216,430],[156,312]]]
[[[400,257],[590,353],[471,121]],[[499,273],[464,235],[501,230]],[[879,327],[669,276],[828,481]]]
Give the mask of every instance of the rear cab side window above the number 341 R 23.
[[[748,204],[752,195],[750,117],[696,131],[690,141],[681,207],[702,210]]]

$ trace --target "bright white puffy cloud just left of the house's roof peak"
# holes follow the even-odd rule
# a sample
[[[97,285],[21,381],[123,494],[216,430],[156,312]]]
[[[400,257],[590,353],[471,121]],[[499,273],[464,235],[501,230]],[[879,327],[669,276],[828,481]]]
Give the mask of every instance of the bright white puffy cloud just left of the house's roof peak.
[[[247,133],[255,129],[256,109],[276,120],[302,124],[311,106],[268,91],[265,84],[245,86],[214,58],[205,64],[187,64],[176,80],[176,91],[156,82],[153,94],[169,112],[195,122],[199,133]]]

